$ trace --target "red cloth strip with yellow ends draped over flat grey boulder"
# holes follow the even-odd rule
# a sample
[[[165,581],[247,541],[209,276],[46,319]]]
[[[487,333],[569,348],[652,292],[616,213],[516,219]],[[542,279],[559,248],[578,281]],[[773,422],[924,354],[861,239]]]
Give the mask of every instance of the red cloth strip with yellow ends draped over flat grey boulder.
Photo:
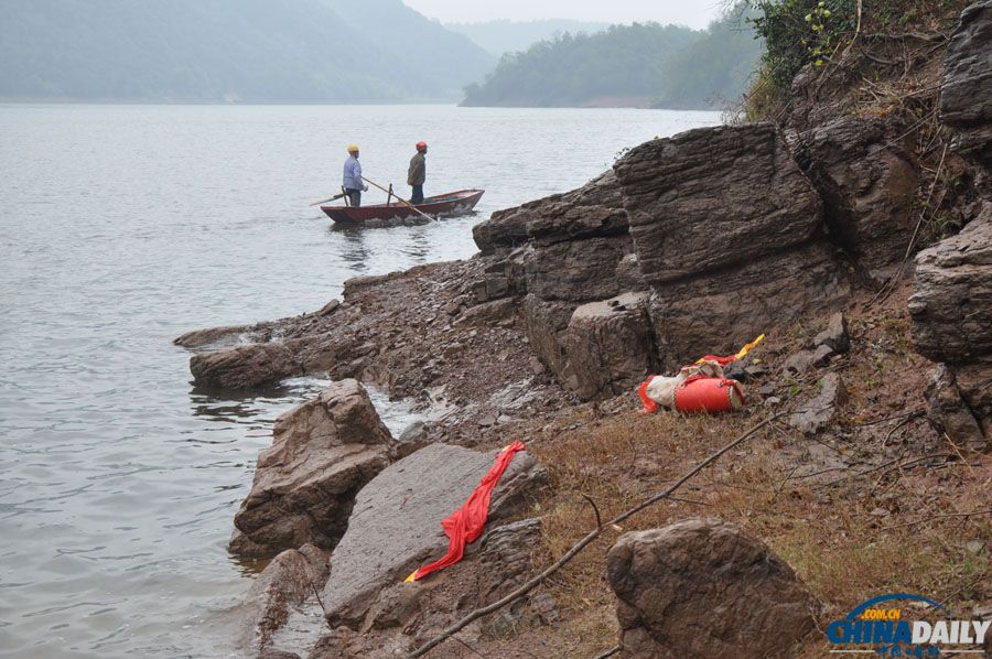
[[[454,565],[462,560],[462,557],[465,554],[465,545],[470,542],[475,542],[482,536],[486,520],[489,518],[489,500],[493,497],[496,484],[499,483],[499,478],[503,477],[503,473],[509,466],[510,461],[514,460],[517,451],[524,451],[524,449],[522,442],[514,442],[499,453],[496,457],[496,464],[483,477],[472,496],[465,500],[461,508],[445,517],[441,522],[441,528],[444,529],[444,534],[448,536],[448,553],[433,563],[414,571],[413,574],[407,577],[408,582],[421,580],[431,572]]]

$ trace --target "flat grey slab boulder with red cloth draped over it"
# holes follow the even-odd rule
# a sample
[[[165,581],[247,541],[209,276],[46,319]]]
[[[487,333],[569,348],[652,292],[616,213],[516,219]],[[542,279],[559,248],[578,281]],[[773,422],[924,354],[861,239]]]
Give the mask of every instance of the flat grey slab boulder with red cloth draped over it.
[[[441,520],[461,508],[494,458],[492,452],[431,444],[362,489],[322,597],[331,627],[358,628],[384,588],[444,554]],[[533,457],[517,453],[493,493],[490,520],[508,515],[546,478],[547,469]]]

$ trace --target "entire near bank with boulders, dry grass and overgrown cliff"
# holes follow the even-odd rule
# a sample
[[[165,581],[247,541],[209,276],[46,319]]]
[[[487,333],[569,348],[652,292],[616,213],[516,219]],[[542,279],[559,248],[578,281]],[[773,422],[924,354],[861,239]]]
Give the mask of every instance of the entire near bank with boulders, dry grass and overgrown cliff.
[[[471,259],[176,339],[198,386],[337,381],[277,422],[236,518],[233,552],[278,554],[251,653],[812,659],[880,594],[992,619],[992,3],[753,10],[727,125],[494,213]],[[758,334],[743,410],[637,413],[646,375]],[[392,437],[359,381],[429,420]],[[403,583],[446,547],[431,488],[516,440],[486,534]]]

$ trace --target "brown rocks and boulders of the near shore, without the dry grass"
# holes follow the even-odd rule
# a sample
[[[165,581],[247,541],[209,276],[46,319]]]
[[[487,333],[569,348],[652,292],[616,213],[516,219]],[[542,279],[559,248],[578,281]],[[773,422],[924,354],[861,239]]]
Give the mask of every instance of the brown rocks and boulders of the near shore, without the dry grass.
[[[865,461],[950,446],[988,469],[992,2],[968,8],[946,46],[916,63],[944,89],[940,152],[918,148],[923,129],[912,116],[858,105],[851,72],[880,65],[856,51],[845,56],[845,66],[797,77],[796,101],[779,123],[653,140],[579,190],[494,213],[474,228],[472,259],[349,280],[343,300],[312,314],[179,337],[195,350],[198,387],[246,389],[308,372],[335,380],[279,419],[235,518],[233,552],[278,554],[249,596],[256,613],[246,652],[403,655],[499,599],[548,562],[539,539],[554,531],[541,501],[564,489],[554,465],[530,451],[500,482],[487,533],[466,560],[402,583],[443,553],[440,521],[486,473],[493,449],[519,436],[540,453],[544,431],[572,432],[578,414],[632,415],[648,374],[731,354],[762,333],[769,346],[746,374],[750,407],[790,411],[778,457],[791,461],[789,477],[800,467],[813,476],[852,469],[856,452],[838,452],[837,442],[872,440],[851,419],[906,407],[909,420],[925,409],[929,425],[904,441],[903,453],[892,453],[886,437]],[[948,172],[955,183],[944,185]],[[928,203],[920,206],[920,196]],[[924,223],[935,205],[942,227]],[[950,237],[938,230],[951,225],[963,228]],[[865,320],[884,304],[907,318],[905,347],[878,344]],[[851,318],[860,323],[853,348]],[[884,364],[886,353],[901,359],[898,386],[854,379],[855,364],[869,355]],[[412,401],[425,422],[392,437],[359,382]],[[811,444],[838,455],[810,457]],[[610,468],[587,460],[583,468]],[[626,477],[655,483],[657,464],[632,465]],[[670,574],[668,564],[681,568]],[[601,573],[619,602],[627,657],[791,656],[823,608],[762,540],[716,519],[627,532]],[[666,594],[712,574],[712,592]],[[308,648],[280,646],[290,609],[310,602],[312,611],[319,592],[323,637]],[[707,622],[718,606],[733,612],[720,629]],[[554,638],[560,608],[538,591],[474,624],[470,637],[493,656],[515,656],[515,644],[533,649]],[[794,636],[763,626],[776,616],[790,620]],[[702,631],[684,645],[676,627]],[[776,642],[766,647],[767,638]],[[464,649],[449,644],[431,656]]]

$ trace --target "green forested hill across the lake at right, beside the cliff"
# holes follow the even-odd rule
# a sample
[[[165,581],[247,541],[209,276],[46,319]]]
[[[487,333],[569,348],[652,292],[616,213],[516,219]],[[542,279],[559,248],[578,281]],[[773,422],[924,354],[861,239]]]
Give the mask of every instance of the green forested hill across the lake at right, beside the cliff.
[[[720,107],[741,94],[761,55],[742,11],[703,31],[635,23],[537,43],[504,55],[462,105]]]

